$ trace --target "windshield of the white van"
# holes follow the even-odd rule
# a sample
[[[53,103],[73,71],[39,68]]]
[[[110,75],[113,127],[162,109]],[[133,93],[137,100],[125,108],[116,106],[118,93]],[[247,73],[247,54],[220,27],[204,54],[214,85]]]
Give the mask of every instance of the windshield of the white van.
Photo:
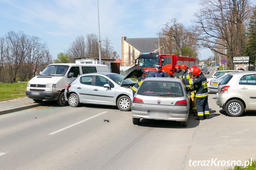
[[[39,76],[64,76],[68,69],[67,65],[48,65]]]

